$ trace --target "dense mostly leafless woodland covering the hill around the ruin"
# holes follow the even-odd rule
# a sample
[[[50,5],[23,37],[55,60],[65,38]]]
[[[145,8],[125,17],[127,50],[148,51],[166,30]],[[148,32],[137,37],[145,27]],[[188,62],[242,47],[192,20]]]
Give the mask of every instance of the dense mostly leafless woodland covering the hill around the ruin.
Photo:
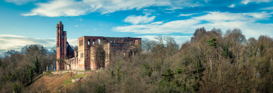
[[[171,36],[142,40],[130,57],[111,55],[110,65],[67,92],[273,92],[273,38],[245,38],[198,28],[178,44]],[[77,49],[77,46],[74,47]],[[26,45],[0,56],[0,92],[24,92],[32,78],[54,69],[56,47]]]

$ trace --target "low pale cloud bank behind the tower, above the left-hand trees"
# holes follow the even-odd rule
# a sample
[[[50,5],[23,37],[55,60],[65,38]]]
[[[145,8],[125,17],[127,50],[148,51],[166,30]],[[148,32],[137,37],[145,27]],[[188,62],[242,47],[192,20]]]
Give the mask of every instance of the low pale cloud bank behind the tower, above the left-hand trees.
[[[78,39],[67,39],[70,45],[78,45]],[[22,47],[27,44],[41,44],[47,49],[51,49],[56,44],[56,38],[41,39],[41,38],[27,38],[18,35],[0,35],[0,53],[6,52],[7,50],[14,49],[20,51]]]

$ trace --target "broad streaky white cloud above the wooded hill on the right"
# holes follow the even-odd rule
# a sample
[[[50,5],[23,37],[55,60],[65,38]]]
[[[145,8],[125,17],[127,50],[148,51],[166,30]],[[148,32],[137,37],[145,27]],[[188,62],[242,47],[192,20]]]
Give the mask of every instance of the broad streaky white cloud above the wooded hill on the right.
[[[271,13],[229,13],[229,12],[208,12],[206,15],[192,17],[187,20],[174,20],[169,22],[157,21],[150,24],[139,24],[129,26],[113,27],[117,32],[134,33],[193,33],[198,27],[212,29],[214,27],[226,29],[240,28],[248,37],[258,37],[260,34],[272,35],[273,24],[258,23],[259,20],[269,20]]]

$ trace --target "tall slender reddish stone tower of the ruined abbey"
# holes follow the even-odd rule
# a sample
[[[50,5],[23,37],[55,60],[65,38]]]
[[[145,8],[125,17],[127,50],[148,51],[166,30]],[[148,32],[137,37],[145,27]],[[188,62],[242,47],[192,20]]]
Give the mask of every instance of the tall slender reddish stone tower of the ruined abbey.
[[[65,59],[66,52],[66,31],[63,31],[63,24],[61,21],[57,24],[57,59]],[[64,63],[56,64],[56,70],[65,69]]]

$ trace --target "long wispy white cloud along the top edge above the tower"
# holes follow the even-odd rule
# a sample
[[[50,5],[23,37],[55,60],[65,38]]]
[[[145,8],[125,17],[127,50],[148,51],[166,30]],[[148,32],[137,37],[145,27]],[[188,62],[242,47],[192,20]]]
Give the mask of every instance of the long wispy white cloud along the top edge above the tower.
[[[48,17],[56,16],[79,16],[91,12],[100,12],[108,14],[115,11],[140,10],[150,6],[167,6],[171,10],[181,9],[183,7],[197,7],[201,4],[192,0],[52,0],[48,2],[36,3],[38,6],[31,10],[30,13],[22,14],[40,15]]]

